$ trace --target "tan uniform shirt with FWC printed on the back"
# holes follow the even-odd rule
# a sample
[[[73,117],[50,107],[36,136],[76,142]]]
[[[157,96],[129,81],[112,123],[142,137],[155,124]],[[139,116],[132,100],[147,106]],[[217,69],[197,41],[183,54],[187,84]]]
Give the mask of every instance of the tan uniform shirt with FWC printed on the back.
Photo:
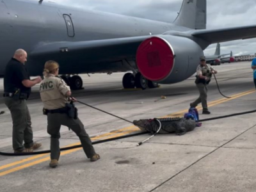
[[[44,108],[49,110],[64,108],[68,102],[65,96],[68,91],[70,91],[70,87],[63,79],[55,77],[53,74],[46,76],[40,84],[40,97]]]

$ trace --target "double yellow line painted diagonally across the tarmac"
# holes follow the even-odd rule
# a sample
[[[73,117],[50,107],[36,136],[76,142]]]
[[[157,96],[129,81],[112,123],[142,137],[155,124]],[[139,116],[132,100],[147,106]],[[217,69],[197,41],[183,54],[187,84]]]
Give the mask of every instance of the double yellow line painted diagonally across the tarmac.
[[[233,100],[233,99],[236,99],[236,98],[238,98],[238,97],[242,97],[242,96],[244,96],[244,95],[248,95],[248,94],[253,93],[253,92],[255,92],[255,90],[249,90],[249,91],[247,91],[247,92],[237,93],[237,94],[235,94],[235,95],[230,96],[230,97],[232,97],[232,98],[230,98],[230,99],[224,98],[224,99],[214,100],[214,101],[212,101],[212,102],[209,102],[208,106],[209,106],[209,107],[215,106],[215,105],[217,105],[217,104],[221,104],[221,103],[223,103],[223,102],[227,102],[228,100]],[[200,109],[202,109],[202,107],[199,107],[199,108],[198,108],[198,110],[200,110]],[[183,111],[179,111],[179,112],[177,112],[177,113],[172,113],[172,114],[167,115],[167,116],[164,116],[164,117],[173,116],[173,115],[174,115],[174,116],[175,116],[175,115],[177,116],[177,115],[180,115],[181,113],[186,113],[186,112],[188,112],[188,109],[185,109],[185,110],[183,110]],[[132,128],[134,128],[134,127],[136,127],[136,126],[132,125],[132,126],[130,126],[130,127],[125,127],[125,128],[123,128],[123,129],[118,129],[118,130],[113,131],[113,132],[108,132],[108,133],[106,133],[106,134],[102,134],[102,135],[100,135],[100,136],[97,136],[97,137],[95,137],[95,138],[92,138],[91,140],[98,140],[99,138],[104,138],[104,137],[106,137],[106,136],[108,136],[108,137],[105,138],[105,139],[116,138],[116,137],[118,137],[118,136],[124,136],[125,134],[129,134],[129,133],[131,133],[131,132],[135,132],[135,131],[139,131],[139,130],[140,130],[140,129],[132,129]],[[131,130],[129,130],[129,129],[131,129]],[[129,130],[129,131],[125,131],[125,130]],[[122,132],[122,131],[124,131],[124,132]],[[115,134],[115,135],[112,135],[112,134]],[[111,135],[112,135],[112,136],[111,136]],[[80,143],[80,142],[79,142],[79,143],[74,143],[74,144],[72,144],[72,145],[68,145],[68,147],[74,146],[74,145],[79,145],[79,144],[81,144],[81,143]],[[65,154],[70,154],[70,153],[72,153],[72,152],[76,152],[77,150],[80,150],[80,149],[81,149],[81,147],[79,147],[79,148],[74,148],[74,149],[71,149],[71,150],[67,150],[67,151],[65,151],[65,152],[61,152],[61,156],[65,155]],[[11,163],[11,164],[6,164],[6,165],[4,165],[4,166],[1,166],[1,167],[0,167],[0,170],[1,170],[1,169],[4,169],[4,168],[8,168],[8,167],[10,167],[10,166],[14,166],[14,165],[20,164],[20,163],[24,163],[24,162],[26,162],[26,161],[31,161],[31,160],[33,160],[33,159],[36,159],[36,158],[39,158],[39,157],[42,157],[42,156],[46,156],[46,155],[47,155],[47,154],[38,155],[38,156],[35,156],[35,157],[30,157],[30,158],[28,158],[28,159],[24,159],[24,160],[21,160],[21,161],[14,162],[14,163]],[[44,158],[44,159],[39,159],[39,160],[37,160],[37,161],[31,162],[31,163],[28,163],[28,164],[24,164],[24,165],[21,165],[21,166],[17,166],[16,168],[12,168],[12,169],[7,170],[7,171],[5,171],[5,172],[1,172],[1,173],[0,173],[0,177],[3,176],[3,175],[7,175],[8,173],[16,172],[16,171],[18,171],[18,170],[22,170],[22,169],[27,168],[27,167],[29,167],[29,166],[33,166],[33,165],[35,165],[35,164],[39,164],[39,163],[42,163],[42,162],[48,161],[48,160],[50,160],[50,157],[46,157],[46,158]],[[4,167],[4,168],[2,168],[2,167]]]

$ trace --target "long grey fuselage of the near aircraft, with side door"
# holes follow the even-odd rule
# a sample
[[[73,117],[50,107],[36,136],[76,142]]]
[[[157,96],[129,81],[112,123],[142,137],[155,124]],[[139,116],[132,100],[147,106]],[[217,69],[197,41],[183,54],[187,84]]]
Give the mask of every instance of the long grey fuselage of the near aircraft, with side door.
[[[95,12],[80,8],[56,6],[53,3],[38,1],[0,1],[0,76],[8,60],[17,49],[28,52],[26,66],[31,76],[42,75],[42,63],[29,58],[29,52],[49,42],[76,42],[122,38],[129,36],[158,35],[166,31],[186,31],[188,28],[165,22],[138,19],[113,13]],[[60,63],[61,65],[61,63]],[[72,63],[69,63],[72,65]],[[88,65],[88,68],[86,68]],[[95,65],[84,61],[83,71],[111,72],[122,71],[120,65]],[[63,74],[76,73],[70,67],[61,66]]]

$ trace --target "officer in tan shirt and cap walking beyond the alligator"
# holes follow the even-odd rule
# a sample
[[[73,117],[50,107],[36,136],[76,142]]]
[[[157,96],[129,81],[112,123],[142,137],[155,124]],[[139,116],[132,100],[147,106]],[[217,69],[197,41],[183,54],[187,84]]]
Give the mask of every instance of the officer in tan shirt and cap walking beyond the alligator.
[[[200,57],[200,65],[196,68],[196,87],[200,93],[198,99],[190,104],[191,108],[195,108],[200,102],[202,102],[203,113],[209,115],[211,112],[208,110],[207,106],[207,85],[211,81],[212,74],[217,74],[217,71],[211,67],[211,65],[206,64],[205,56]]]

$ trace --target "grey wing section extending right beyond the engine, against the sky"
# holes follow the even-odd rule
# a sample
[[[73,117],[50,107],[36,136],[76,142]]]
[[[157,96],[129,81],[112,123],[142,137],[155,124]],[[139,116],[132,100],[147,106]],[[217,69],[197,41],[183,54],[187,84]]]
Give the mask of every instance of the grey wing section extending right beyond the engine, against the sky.
[[[204,29],[193,31],[191,35],[202,38],[211,44],[218,42],[227,42],[256,37],[256,26],[244,26],[226,29]]]

